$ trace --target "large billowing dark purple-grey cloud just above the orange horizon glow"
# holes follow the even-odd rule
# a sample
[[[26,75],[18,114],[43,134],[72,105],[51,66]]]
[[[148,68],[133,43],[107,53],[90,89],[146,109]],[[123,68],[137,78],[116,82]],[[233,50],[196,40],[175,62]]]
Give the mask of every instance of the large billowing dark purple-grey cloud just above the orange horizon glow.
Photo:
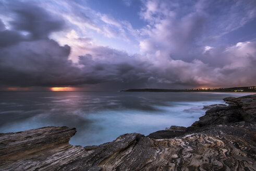
[[[21,42],[2,48],[2,84],[9,86],[55,86],[76,84],[79,68],[68,60],[70,47],[53,40]]]

